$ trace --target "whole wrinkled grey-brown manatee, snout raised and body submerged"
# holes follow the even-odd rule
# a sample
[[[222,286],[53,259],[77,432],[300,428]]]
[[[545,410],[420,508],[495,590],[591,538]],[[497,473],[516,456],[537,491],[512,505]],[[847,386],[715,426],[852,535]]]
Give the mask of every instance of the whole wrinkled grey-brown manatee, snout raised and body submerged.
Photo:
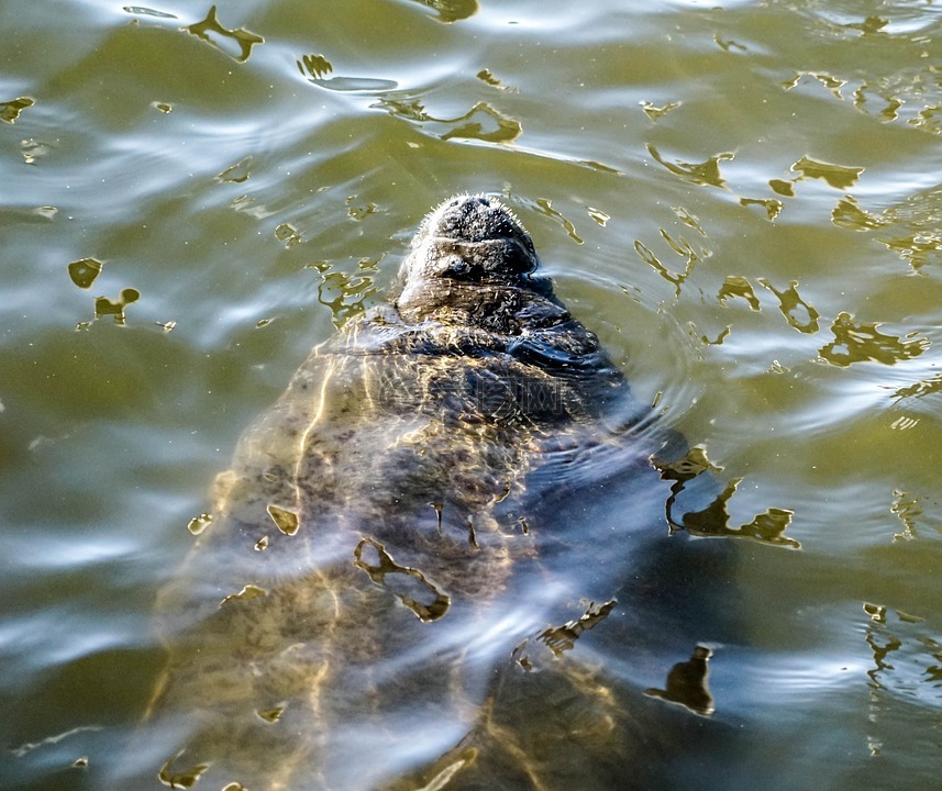
[[[446,201],[398,297],[243,436],[160,597],[165,784],[605,788],[631,766],[638,728],[574,646],[633,536],[666,533],[663,439],[538,267],[499,201]]]

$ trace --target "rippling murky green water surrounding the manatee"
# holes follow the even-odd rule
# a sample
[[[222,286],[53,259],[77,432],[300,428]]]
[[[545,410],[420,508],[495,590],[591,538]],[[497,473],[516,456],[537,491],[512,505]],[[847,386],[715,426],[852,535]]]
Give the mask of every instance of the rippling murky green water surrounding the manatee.
[[[790,512],[789,542],[711,539],[735,639],[689,636],[730,738],[691,787],[934,782],[940,11],[7,0],[0,784],[122,776],[213,476],[458,190],[506,197],[639,398],[739,480],[733,527]]]

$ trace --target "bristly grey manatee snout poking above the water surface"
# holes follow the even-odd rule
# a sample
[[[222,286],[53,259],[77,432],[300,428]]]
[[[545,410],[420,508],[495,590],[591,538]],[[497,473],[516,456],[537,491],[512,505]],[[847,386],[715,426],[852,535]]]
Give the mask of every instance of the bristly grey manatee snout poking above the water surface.
[[[500,299],[500,291],[545,294],[548,279],[530,234],[503,203],[485,194],[459,194],[434,209],[412,237],[399,270],[402,312],[429,313],[468,302]]]

